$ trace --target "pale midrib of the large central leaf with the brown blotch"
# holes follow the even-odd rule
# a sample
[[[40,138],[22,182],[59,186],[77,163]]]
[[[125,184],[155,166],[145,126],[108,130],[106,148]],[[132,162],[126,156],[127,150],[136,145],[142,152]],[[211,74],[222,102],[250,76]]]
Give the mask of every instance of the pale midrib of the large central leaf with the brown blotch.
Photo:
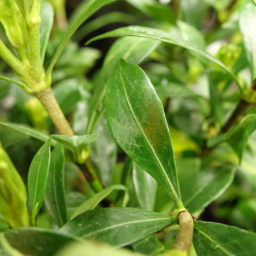
[[[131,113],[132,113],[132,116],[133,116],[133,118],[134,118],[134,120],[135,120],[137,126],[139,127],[139,129],[140,129],[140,131],[141,131],[143,137],[145,138],[146,142],[148,143],[148,145],[149,145],[149,147],[150,147],[150,149],[151,149],[153,155],[155,156],[155,158],[156,158],[156,160],[157,160],[157,162],[158,162],[158,165],[160,166],[160,169],[162,170],[162,172],[163,172],[163,174],[164,174],[164,176],[165,176],[165,179],[166,179],[168,185],[170,186],[170,189],[171,189],[172,194],[173,194],[173,196],[174,196],[175,202],[176,202],[176,204],[178,205],[178,204],[180,204],[180,202],[179,202],[179,200],[178,200],[178,199],[179,199],[178,194],[176,193],[176,191],[175,191],[175,189],[174,189],[174,187],[173,187],[173,185],[172,185],[172,183],[171,183],[171,181],[170,181],[170,179],[169,179],[169,177],[168,177],[168,175],[167,175],[167,173],[166,173],[166,171],[165,171],[163,165],[161,164],[161,162],[160,162],[158,156],[157,156],[156,153],[155,153],[154,148],[153,148],[152,145],[150,144],[150,141],[148,140],[147,136],[145,135],[143,129],[141,128],[141,126],[140,126],[140,124],[139,124],[139,122],[138,122],[138,120],[137,120],[137,118],[136,118],[136,116],[135,116],[135,113],[133,112],[133,109],[132,109],[132,107],[131,107],[131,105],[130,105],[130,101],[129,101],[128,96],[127,96],[127,92],[126,92],[126,89],[125,89],[125,85],[124,85],[123,78],[122,78],[122,76],[121,76],[121,72],[123,72],[123,74],[124,74],[125,77],[126,77],[126,75],[125,75],[124,71],[122,70],[120,64],[119,64],[119,67],[120,67],[120,78],[121,78],[121,82],[122,82],[122,85],[123,85],[123,88],[124,88],[126,101],[127,101],[128,106],[129,106],[129,108],[130,108],[130,111],[131,111]],[[126,77],[126,80],[128,81],[127,77]]]

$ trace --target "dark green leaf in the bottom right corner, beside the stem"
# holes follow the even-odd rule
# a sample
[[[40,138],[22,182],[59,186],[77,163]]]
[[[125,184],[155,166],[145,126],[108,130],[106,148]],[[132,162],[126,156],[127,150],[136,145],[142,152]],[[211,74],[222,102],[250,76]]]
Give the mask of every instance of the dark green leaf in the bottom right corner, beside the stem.
[[[194,221],[193,244],[198,255],[254,255],[256,234],[234,226]]]

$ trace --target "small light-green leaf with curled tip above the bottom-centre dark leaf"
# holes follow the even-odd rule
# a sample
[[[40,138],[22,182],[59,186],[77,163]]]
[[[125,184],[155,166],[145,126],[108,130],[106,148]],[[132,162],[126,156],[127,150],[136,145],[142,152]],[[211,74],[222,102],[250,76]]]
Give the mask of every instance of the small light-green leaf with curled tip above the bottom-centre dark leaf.
[[[86,211],[93,210],[100,202],[102,199],[104,199],[107,195],[109,195],[113,190],[125,190],[126,187],[124,185],[112,185],[94,196],[92,196],[90,199],[86,200],[84,203],[82,203],[74,212],[74,214],[71,216],[71,219],[74,219],[76,216],[79,214],[82,214]]]

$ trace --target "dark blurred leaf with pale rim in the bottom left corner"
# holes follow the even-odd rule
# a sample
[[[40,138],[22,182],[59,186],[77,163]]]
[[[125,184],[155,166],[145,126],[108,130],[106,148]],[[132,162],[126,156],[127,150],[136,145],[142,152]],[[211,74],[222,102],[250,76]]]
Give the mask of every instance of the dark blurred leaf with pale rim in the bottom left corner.
[[[4,233],[3,238],[9,247],[21,252],[22,255],[36,256],[54,255],[66,244],[81,241],[81,239],[68,234],[34,227],[10,230]],[[2,242],[1,238],[0,245]],[[81,241],[81,243],[83,242]]]

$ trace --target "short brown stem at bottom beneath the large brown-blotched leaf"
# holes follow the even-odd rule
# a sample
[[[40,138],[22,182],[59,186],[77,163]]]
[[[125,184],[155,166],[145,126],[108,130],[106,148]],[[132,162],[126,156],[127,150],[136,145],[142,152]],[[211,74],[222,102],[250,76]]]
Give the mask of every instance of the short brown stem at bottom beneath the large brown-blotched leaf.
[[[177,217],[180,228],[175,243],[168,256],[189,256],[193,238],[193,218],[187,210],[181,211]]]

